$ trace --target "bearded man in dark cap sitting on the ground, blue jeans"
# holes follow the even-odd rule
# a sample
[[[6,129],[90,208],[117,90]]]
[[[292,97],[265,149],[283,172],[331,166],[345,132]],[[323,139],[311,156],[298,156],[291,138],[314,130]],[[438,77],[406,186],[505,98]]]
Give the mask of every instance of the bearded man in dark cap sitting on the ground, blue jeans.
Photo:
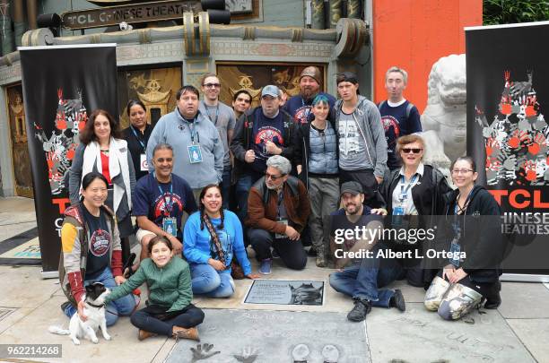
[[[374,233],[356,235],[356,230],[364,230],[362,226],[372,232],[381,231],[382,215],[386,215],[387,211],[364,205],[362,185],[356,181],[348,181],[341,186],[341,202],[343,208],[331,215],[330,246],[335,257],[342,257],[337,259],[335,267],[347,267],[330,275],[330,286],[353,298],[354,307],[347,319],[362,322],[371,307],[396,307],[405,311],[405,299],[400,290],[380,289],[404,277],[404,268],[394,258],[377,256],[388,246],[379,238],[371,238]],[[366,255],[365,251],[370,255]],[[344,255],[349,252],[362,255],[349,258]]]

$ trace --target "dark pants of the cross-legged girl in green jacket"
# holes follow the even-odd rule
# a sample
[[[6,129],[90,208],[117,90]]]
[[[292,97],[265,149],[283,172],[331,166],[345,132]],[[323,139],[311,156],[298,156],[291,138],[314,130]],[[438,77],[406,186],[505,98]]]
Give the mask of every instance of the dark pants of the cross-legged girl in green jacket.
[[[192,304],[182,310],[166,313],[167,308],[151,305],[136,311],[130,318],[137,328],[171,336],[174,325],[192,328],[204,321],[204,312]]]

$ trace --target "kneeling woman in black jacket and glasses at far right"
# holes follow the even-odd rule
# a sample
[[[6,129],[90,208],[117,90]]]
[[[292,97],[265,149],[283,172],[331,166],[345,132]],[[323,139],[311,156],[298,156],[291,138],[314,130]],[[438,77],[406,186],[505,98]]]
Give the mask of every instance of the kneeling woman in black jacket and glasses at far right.
[[[443,243],[444,267],[425,294],[425,307],[439,312],[445,320],[456,320],[482,304],[495,309],[501,304],[501,258],[505,249],[501,238],[501,209],[484,186],[475,186],[475,161],[464,156],[451,167],[457,190],[447,196],[447,229],[437,231]]]

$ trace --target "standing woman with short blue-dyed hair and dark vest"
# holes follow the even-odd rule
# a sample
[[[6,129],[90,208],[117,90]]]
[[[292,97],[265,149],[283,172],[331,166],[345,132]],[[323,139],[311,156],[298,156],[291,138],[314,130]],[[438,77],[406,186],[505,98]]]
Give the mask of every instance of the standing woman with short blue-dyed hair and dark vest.
[[[297,126],[299,142],[295,143],[295,164],[309,192],[309,233],[317,252],[317,266],[326,267],[329,240],[322,217],[335,212],[339,201],[337,132],[334,121],[327,119],[330,111],[327,96],[315,97],[311,110],[314,119]]]

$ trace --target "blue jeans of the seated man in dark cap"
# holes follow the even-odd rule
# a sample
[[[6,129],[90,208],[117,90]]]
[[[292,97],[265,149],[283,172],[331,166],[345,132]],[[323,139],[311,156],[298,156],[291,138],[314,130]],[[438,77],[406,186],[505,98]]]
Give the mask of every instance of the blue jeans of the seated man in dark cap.
[[[370,300],[372,307],[389,307],[389,299],[395,291],[379,288],[404,277],[405,270],[395,259],[376,258],[380,249],[388,247],[378,242],[371,249],[371,258],[363,258],[361,264],[330,274],[330,286],[353,298]]]

